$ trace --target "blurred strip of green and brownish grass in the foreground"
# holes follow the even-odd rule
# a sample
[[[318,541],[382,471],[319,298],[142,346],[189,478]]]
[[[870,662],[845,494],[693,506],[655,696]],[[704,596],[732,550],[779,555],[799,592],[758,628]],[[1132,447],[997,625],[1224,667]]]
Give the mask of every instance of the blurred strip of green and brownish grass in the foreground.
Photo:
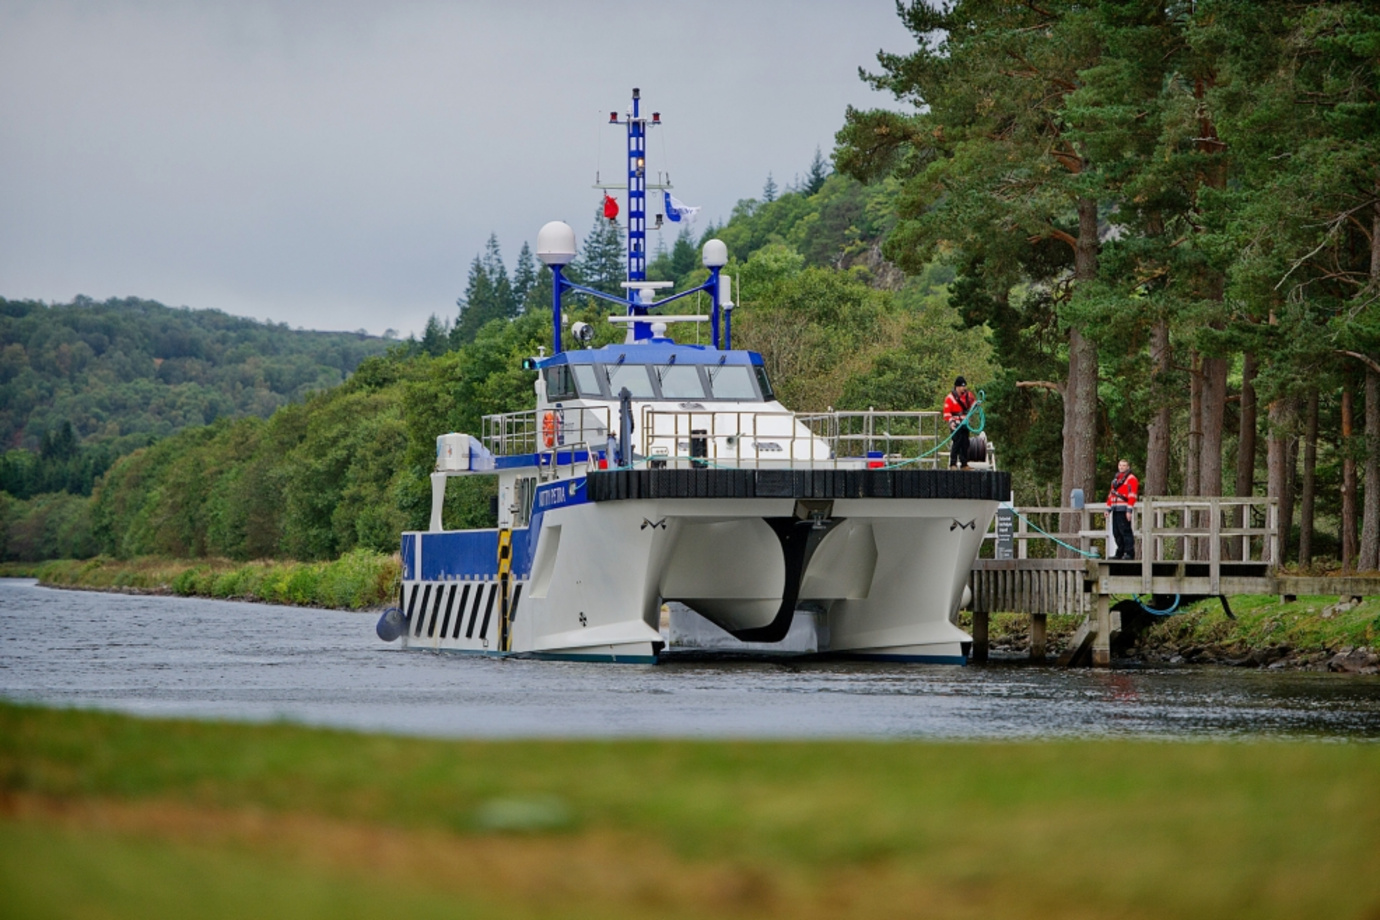
[[[421,741],[0,705],[11,917],[1380,917],[1380,745]]]

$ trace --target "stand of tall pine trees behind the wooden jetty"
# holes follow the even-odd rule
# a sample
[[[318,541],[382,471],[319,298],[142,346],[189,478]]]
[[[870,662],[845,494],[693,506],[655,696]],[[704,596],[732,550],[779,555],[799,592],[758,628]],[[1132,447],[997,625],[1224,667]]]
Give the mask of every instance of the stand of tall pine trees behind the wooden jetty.
[[[918,47],[865,80],[904,108],[849,110],[835,163],[896,189],[886,258],[945,261],[991,330],[1017,491],[1098,495],[1127,457],[1150,494],[1263,488],[1286,535],[1297,509],[1305,564],[1380,568],[1373,4],[898,10]]]

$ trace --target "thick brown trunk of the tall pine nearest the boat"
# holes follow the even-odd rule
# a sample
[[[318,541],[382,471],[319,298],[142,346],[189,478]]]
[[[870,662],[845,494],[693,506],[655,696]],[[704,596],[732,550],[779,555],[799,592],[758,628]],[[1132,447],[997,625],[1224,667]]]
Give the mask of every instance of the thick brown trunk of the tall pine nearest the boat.
[[[1097,201],[1078,199],[1078,248],[1074,280],[1097,277]],[[1064,498],[1081,488],[1093,501],[1097,487],[1097,346],[1082,330],[1068,331],[1068,386],[1064,388]],[[1071,530],[1064,527],[1064,530]]]

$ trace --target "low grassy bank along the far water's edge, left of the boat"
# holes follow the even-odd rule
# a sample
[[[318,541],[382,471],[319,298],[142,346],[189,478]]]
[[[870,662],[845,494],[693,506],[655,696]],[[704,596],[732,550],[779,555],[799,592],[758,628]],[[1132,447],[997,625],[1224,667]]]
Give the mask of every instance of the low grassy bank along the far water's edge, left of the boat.
[[[101,556],[43,563],[33,577],[44,585],[63,588],[360,610],[386,604],[396,594],[402,564],[396,556],[367,550],[346,553],[330,563],[235,563],[224,559],[160,557],[119,560]]]

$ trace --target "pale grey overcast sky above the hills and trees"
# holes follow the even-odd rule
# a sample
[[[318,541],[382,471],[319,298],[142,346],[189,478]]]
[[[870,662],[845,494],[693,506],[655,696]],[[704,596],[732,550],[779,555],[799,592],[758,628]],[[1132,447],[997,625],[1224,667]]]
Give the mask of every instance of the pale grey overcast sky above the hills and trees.
[[[420,332],[491,232],[584,239],[633,86],[704,228],[912,47],[893,0],[0,0],[0,295]]]

